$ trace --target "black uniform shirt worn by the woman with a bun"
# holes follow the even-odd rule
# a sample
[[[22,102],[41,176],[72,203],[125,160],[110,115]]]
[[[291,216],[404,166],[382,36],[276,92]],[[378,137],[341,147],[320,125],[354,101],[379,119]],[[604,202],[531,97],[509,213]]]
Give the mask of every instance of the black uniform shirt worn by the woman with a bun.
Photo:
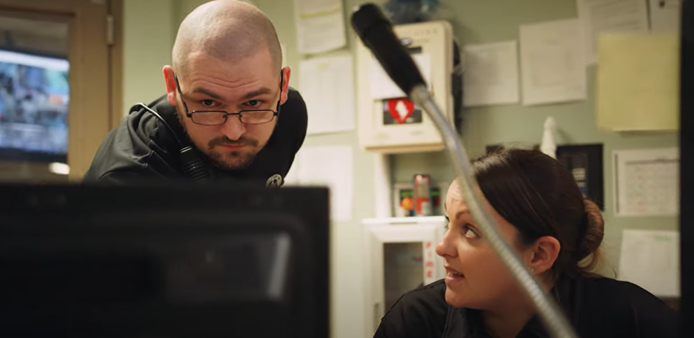
[[[645,289],[610,278],[564,278],[550,292],[582,338],[676,338],[677,312]],[[550,338],[535,316],[517,338]],[[482,314],[446,303],[443,280],[410,291],[373,338],[492,338]]]

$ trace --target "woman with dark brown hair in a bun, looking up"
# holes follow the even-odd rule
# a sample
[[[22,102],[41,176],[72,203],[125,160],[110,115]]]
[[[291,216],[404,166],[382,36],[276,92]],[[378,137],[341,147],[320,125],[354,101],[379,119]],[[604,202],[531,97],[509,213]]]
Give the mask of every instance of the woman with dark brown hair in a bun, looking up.
[[[580,337],[677,337],[677,314],[648,291],[591,272],[604,222],[561,164],[539,151],[500,149],[473,162],[484,202],[541,287]],[[405,294],[376,338],[548,337],[530,300],[468,212],[457,182],[437,245],[445,280]]]

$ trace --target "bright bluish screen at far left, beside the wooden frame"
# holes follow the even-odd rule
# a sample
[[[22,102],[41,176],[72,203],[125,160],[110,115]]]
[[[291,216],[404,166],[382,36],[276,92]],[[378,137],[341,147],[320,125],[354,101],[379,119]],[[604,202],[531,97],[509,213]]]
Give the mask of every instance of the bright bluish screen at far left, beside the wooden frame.
[[[65,162],[69,62],[0,49],[0,160]]]

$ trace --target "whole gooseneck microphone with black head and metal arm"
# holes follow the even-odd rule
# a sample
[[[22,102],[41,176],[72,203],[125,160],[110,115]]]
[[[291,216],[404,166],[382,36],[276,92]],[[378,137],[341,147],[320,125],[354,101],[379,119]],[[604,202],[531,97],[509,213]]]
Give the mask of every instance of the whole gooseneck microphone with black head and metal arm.
[[[545,295],[540,285],[500,235],[498,226],[491,215],[484,209],[482,196],[479,193],[480,187],[475,180],[463,144],[460,142],[455,129],[448,124],[441,109],[432,99],[421,73],[409,53],[393,33],[391,22],[384,17],[378,7],[373,4],[366,4],[360,6],[352,15],[352,26],[398,87],[409,94],[409,99],[420,105],[434,121],[441,137],[443,137],[443,143],[448,149],[456,174],[459,176],[463,197],[470,213],[480,226],[489,246],[532,300],[550,335],[554,338],[578,338],[575,330],[566,320],[566,316],[559,310],[557,303]]]

